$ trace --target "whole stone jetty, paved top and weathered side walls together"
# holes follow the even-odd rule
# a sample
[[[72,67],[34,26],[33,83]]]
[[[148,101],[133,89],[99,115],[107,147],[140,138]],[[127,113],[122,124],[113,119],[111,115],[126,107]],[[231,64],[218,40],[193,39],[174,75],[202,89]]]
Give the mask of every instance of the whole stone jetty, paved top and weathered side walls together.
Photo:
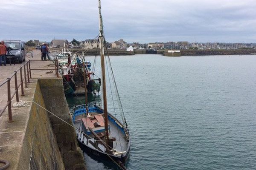
[[[0,66],[0,169],[85,170],[58,62],[33,54]]]

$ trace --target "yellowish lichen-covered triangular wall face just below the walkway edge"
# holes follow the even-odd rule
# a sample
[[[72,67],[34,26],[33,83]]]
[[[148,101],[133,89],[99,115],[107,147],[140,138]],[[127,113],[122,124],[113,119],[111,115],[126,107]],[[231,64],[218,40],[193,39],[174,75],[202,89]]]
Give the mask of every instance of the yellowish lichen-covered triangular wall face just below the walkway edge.
[[[45,80],[47,81],[47,80]],[[40,83],[37,83],[34,102],[46,108]],[[17,168],[23,170],[64,170],[61,153],[58,149],[48,113],[35,103],[31,103],[29,120],[26,124],[25,136],[21,144],[20,159]]]

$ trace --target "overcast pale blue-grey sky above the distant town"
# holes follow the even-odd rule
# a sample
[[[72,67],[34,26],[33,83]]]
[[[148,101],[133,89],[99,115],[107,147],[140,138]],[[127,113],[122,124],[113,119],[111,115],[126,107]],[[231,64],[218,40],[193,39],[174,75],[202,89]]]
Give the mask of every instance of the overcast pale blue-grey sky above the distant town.
[[[1,0],[0,39],[94,39],[98,0]],[[255,0],[102,0],[114,42],[256,42]]]

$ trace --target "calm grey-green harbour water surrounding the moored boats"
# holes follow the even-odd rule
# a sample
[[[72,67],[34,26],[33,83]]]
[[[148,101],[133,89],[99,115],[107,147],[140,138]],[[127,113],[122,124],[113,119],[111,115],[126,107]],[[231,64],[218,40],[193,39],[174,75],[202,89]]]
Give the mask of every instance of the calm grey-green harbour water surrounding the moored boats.
[[[256,169],[255,55],[111,62],[131,134],[129,170]],[[84,97],[67,100],[72,108]],[[85,159],[88,170],[113,169]]]

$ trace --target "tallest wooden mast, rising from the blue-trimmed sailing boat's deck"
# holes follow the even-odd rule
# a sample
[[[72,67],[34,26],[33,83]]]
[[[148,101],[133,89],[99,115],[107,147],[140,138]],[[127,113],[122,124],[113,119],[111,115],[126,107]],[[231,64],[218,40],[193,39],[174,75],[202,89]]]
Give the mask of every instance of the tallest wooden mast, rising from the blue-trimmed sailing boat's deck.
[[[102,67],[102,93],[103,93],[103,105],[104,105],[105,135],[106,135],[106,140],[109,141],[108,108],[107,108],[106,78],[105,78],[105,58],[104,58],[104,33],[103,33],[100,0],[99,0],[99,46],[100,46],[100,58],[101,58],[101,67]]]

